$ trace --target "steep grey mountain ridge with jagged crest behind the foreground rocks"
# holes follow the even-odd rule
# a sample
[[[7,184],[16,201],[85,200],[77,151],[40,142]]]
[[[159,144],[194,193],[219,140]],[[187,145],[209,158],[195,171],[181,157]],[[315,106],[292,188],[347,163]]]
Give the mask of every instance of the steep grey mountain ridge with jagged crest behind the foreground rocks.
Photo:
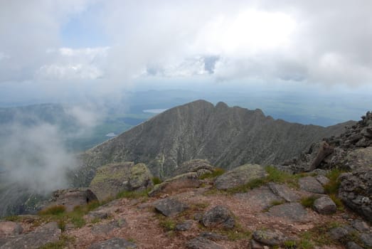
[[[214,166],[232,169],[245,163],[276,164],[297,156],[313,142],[341,134],[354,122],[331,127],[274,120],[261,110],[216,106],[204,100],[171,108],[151,120],[82,154],[87,185],[94,169],[119,161],[143,162],[152,174],[166,178],[183,162],[208,159]]]

